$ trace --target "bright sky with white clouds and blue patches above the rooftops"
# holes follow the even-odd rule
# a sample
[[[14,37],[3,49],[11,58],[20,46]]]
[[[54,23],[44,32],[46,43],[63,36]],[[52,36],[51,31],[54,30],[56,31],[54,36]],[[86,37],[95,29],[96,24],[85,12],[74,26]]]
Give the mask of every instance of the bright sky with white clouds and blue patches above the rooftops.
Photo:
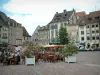
[[[100,0],[0,0],[0,11],[24,26],[30,35],[47,25],[56,12],[66,9],[86,13],[100,10]]]

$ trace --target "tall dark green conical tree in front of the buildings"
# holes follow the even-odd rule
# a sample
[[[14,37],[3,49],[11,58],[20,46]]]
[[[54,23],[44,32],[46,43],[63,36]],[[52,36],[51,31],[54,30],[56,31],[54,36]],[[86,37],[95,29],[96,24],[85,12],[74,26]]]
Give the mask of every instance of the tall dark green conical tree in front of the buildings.
[[[66,28],[62,27],[59,30],[59,42],[62,45],[68,44],[69,40],[68,40],[68,33]]]

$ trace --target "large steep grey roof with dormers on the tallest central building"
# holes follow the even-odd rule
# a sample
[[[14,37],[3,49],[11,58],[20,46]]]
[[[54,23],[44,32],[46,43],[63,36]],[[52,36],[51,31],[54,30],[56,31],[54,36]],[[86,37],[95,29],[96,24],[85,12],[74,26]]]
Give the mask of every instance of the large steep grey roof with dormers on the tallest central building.
[[[62,12],[62,13],[56,12],[56,14],[54,15],[54,17],[50,23],[68,21],[70,19],[71,15],[73,14],[73,12],[75,12],[75,10],[72,10],[72,11],[64,10],[64,12]]]

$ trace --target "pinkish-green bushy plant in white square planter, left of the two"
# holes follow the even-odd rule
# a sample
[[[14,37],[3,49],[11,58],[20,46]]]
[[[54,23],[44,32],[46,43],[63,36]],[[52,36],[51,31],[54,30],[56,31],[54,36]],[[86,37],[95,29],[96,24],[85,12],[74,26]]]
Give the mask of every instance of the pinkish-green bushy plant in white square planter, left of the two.
[[[35,65],[35,55],[38,52],[37,46],[33,42],[26,41],[23,43],[24,55],[25,55],[25,64],[26,65]]]

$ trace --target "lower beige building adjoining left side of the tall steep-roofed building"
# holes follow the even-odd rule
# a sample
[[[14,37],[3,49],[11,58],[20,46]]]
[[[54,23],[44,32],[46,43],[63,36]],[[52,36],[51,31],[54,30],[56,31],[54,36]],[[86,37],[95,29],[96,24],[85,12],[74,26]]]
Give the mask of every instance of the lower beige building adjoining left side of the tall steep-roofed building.
[[[49,26],[42,26],[38,30],[38,44],[48,45],[49,44]]]

